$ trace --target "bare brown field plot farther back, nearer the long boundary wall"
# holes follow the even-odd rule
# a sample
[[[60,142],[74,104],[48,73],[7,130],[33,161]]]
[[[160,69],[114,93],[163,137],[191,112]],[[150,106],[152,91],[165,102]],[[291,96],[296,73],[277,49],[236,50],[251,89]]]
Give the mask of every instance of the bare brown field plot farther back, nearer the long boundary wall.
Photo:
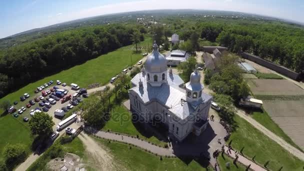
[[[303,95],[304,90],[285,79],[248,79],[253,94],[261,95]]]

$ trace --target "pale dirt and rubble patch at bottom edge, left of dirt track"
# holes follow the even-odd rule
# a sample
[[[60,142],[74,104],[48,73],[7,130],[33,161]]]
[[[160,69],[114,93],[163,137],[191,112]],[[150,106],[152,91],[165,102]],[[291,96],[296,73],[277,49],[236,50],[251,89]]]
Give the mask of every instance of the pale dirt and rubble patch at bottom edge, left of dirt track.
[[[85,164],[81,163],[80,157],[73,153],[67,153],[63,158],[54,158],[47,163],[49,170],[60,170],[64,166],[67,170],[75,170],[75,168],[84,168]]]

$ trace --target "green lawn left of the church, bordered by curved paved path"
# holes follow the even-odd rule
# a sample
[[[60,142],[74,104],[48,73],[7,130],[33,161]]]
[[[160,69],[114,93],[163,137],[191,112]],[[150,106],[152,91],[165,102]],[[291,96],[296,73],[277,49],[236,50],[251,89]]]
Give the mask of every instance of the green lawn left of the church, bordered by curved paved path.
[[[121,104],[122,105],[122,104]],[[111,119],[106,122],[104,127],[102,128],[104,131],[108,129],[114,132],[121,132],[125,134],[130,134],[133,136],[138,135],[140,138],[145,139],[154,144],[158,144],[160,146],[164,146],[166,144],[163,141],[158,140],[155,136],[145,137],[143,136],[133,125],[131,121],[130,112],[121,105],[116,105],[112,109]]]

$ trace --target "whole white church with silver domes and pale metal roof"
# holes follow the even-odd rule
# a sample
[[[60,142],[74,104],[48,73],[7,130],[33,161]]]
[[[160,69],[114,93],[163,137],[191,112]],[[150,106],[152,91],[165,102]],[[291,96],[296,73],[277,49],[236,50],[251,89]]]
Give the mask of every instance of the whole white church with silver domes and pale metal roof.
[[[157,120],[169,136],[182,141],[190,133],[199,135],[208,124],[212,96],[202,92],[200,74],[195,70],[185,83],[167,68],[165,57],[153,44],[145,67],[131,79],[130,109],[143,124]]]

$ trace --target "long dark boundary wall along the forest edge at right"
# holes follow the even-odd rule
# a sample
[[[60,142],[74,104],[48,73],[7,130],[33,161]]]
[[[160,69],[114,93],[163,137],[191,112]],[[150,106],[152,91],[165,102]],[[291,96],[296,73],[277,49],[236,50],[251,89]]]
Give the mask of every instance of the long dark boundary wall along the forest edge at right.
[[[288,68],[285,68],[281,65],[278,65],[278,64],[275,64],[275,63],[272,63],[271,61],[268,61],[268,60],[265,60],[265,59],[262,59],[260,58],[259,56],[256,56],[256,55],[253,55],[253,54],[250,54],[250,53],[240,53],[240,55],[245,58],[245,59],[248,59],[248,60],[251,60],[257,64],[260,64],[262,66],[265,66],[269,69],[272,69],[280,74],[283,74],[291,79],[298,79],[299,78],[299,73],[296,73]]]

